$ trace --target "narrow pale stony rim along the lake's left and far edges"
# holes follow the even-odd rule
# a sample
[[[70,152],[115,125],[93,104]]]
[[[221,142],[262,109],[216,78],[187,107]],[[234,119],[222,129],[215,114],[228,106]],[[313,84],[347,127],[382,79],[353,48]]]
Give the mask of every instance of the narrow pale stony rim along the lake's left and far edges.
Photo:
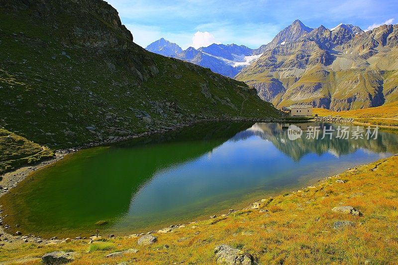
[[[218,119],[204,119],[204,120],[197,120],[197,121],[191,121],[191,122],[185,122],[185,123],[180,123],[177,124],[174,127],[170,128],[162,128],[162,129],[157,129],[157,130],[152,130],[149,132],[144,132],[140,134],[132,134],[128,136],[118,136],[114,137],[112,139],[107,139],[101,142],[92,142],[86,145],[82,145],[76,148],[68,148],[68,149],[62,149],[62,150],[57,150],[55,151],[55,157],[50,159],[50,160],[45,160],[41,163],[38,163],[36,165],[29,165],[29,166],[24,166],[21,168],[18,168],[17,170],[8,172],[0,176],[0,197],[4,194],[6,194],[9,190],[12,188],[16,187],[16,185],[24,180],[29,174],[31,174],[34,171],[37,171],[43,167],[46,167],[48,165],[51,165],[55,162],[58,162],[62,160],[66,155],[75,153],[79,150],[82,149],[88,149],[92,147],[98,147],[98,146],[104,146],[104,145],[109,145],[112,143],[117,143],[117,142],[122,142],[126,141],[129,139],[134,139],[134,138],[140,138],[140,137],[145,137],[149,136],[152,134],[157,134],[157,133],[165,133],[165,132],[170,132],[173,130],[177,129],[182,129],[184,127],[192,126],[195,124],[200,124],[200,123],[205,123],[205,122],[221,122],[221,121],[252,121],[252,122],[276,122],[276,123],[286,123],[286,122],[303,122],[303,121],[309,121],[308,119],[305,120],[297,120],[297,119],[289,119],[289,117],[286,118],[267,118],[267,119],[255,119],[255,118],[218,118]],[[27,243],[27,242],[32,242],[36,244],[58,244],[61,243],[65,240],[71,240],[71,239],[57,239],[57,238],[51,238],[51,239],[43,239],[41,237],[35,237],[34,235],[11,235],[7,233],[5,230],[9,228],[9,225],[3,224],[3,218],[6,216],[2,216],[2,205],[0,205],[0,247],[4,245],[2,242],[7,242],[7,243]],[[181,225],[173,225],[173,227],[179,227]],[[153,232],[153,231],[151,231]],[[130,236],[139,236],[139,235],[144,235],[145,233],[138,234],[138,235],[130,235]],[[75,240],[81,240],[82,238],[78,237]]]

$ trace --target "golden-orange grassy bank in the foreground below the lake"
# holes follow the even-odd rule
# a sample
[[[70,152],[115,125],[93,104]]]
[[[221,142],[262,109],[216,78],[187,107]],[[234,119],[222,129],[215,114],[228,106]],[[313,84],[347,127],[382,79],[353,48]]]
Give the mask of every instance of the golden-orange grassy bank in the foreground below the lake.
[[[212,216],[208,220],[172,226],[158,232],[151,231],[149,233],[157,239],[150,246],[137,244],[137,239],[144,234],[92,240],[76,239],[71,243],[43,241],[34,243],[42,246],[34,249],[22,248],[25,243],[21,239],[15,239],[13,244],[7,243],[3,246],[2,256],[10,263],[21,259],[39,262],[40,258],[37,257],[67,248],[77,255],[74,264],[82,265],[90,262],[116,264],[131,259],[136,263],[147,264],[173,264],[176,261],[181,262],[181,259],[212,264],[215,261],[213,248],[219,244],[229,244],[237,246],[263,263],[275,259],[275,255],[278,257],[281,253],[295,255],[296,262],[304,263],[314,261],[313,259],[326,262],[336,257],[343,263],[358,258],[360,262],[367,261],[371,264],[392,261],[398,245],[391,243],[391,240],[394,241],[394,233],[391,234],[390,230],[395,229],[393,224],[398,216],[394,212],[398,204],[391,197],[393,193],[390,190],[397,189],[397,165],[398,156],[395,155],[349,169],[342,174],[323,177],[316,185],[264,198],[241,210]],[[332,210],[333,207],[346,205],[360,214]],[[384,240],[380,241],[380,236]],[[349,238],[351,239],[348,240]],[[275,240],[280,243],[275,245]],[[264,245],[261,243],[263,241],[268,243]],[[334,244],[339,241],[344,243]],[[207,243],[203,245],[201,242]],[[88,247],[91,249],[91,246],[103,244],[111,247],[87,252]],[[166,245],[168,247],[164,248]],[[296,245],[307,247],[301,247],[298,251]],[[137,252],[116,256],[111,260],[105,257],[109,253],[131,248]],[[263,248],[267,251],[264,252]],[[334,249],[334,257],[327,254],[330,248]],[[16,249],[19,250],[18,255],[15,255]],[[311,249],[317,249],[319,255],[305,254]],[[187,256],[187,252],[192,255]],[[356,255],[352,256],[351,253],[354,252]],[[153,256],[154,254],[156,255]],[[285,259],[290,256],[285,256]]]

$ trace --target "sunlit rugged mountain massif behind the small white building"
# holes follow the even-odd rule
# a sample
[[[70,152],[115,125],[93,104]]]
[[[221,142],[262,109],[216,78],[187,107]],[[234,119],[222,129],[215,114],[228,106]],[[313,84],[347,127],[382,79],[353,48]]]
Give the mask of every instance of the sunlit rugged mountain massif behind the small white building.
[[[368,32],[352,25],[296,32],[301,36],[293,42],[276,45],[282,38],[274,39],[236,79],[278,107],[310,103],[347,110],[398,99],[398,25]]]

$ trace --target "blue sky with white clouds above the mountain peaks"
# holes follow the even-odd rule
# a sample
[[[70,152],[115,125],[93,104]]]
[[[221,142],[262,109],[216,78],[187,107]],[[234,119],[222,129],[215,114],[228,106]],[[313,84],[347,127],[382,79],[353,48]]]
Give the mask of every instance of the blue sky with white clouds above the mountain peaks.
[[[183,49],[211,43],[267,44],[300,19],[311,28],[339,23],[362,29],[398,23],[397,0],[107,0],[142,47],[165,39]]]

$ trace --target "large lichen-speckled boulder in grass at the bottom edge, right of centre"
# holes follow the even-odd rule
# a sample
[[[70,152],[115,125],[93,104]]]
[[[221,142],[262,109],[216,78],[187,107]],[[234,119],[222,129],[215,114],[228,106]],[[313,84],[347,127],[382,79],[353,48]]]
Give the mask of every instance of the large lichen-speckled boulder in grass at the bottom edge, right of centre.
[[[254,265],[253,256],[243,253],[228,245],[220,245],[214,249],[218,264],[228,265]]]

